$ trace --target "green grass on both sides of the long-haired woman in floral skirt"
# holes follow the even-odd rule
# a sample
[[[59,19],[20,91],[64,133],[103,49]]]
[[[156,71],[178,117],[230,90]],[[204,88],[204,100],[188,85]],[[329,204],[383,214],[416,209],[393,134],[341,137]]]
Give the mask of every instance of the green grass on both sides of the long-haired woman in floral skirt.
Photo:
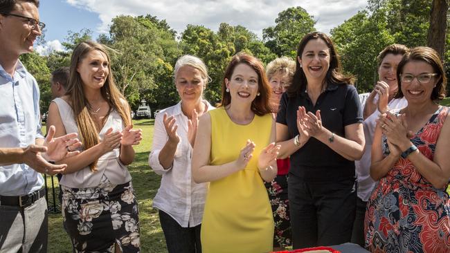
[[[134,147],[136,157],[132,165],[128,166],[133,177],[133,186],[139,204],[139,219],[141,223],[141,252],[167,252],[163,230],[159,224],[158,212],[152,208],[152,200],[159,188],[161,176],[156,175],[148,166],[148,153],[152,147],[154,120],[134,120],[134,128],[143,130],[143,141]],[[48,187],[51,180],[47,177]],[[55,178],[55,187],[57,180]],[[51,189],[49,200],[53,201]],[[58,202],[58,200],[56,200]],[[51,207],[49,203],[49,207]],[[69,236],[62,228],[61,214],[48,215],[48,252],[72,252]]]

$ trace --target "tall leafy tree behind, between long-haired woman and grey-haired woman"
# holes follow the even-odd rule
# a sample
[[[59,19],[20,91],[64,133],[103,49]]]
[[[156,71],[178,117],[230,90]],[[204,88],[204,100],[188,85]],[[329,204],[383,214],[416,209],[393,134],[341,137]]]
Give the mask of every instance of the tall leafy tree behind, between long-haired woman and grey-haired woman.
[[[109,37],[99,40],[110,48],[116,84],[132,107],[143,99],[156,107],[175,100],[174,94],[164,91],[171,86],[172,62],[181,50],[165,21],[150,15],[118,16]]]

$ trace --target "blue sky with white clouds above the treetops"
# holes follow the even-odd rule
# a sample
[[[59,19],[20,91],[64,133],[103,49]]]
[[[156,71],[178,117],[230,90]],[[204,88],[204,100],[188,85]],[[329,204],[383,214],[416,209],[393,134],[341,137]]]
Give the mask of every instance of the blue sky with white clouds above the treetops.
[[[367,0],[41,0],[40,21],[46,24],[45,41],[36,46],[38,53],[63,50],[61,42],[68,31],[93,31],[96,39],[107,33],[111,19],[117,15],[147,15],[165,19],[178,33],[188,24],[217,30],[226,22],[242,25],[262,38],[262,29],[275,25],[278,13],[301,6],[317,21],[316,30],[330,30],[366,8]]]

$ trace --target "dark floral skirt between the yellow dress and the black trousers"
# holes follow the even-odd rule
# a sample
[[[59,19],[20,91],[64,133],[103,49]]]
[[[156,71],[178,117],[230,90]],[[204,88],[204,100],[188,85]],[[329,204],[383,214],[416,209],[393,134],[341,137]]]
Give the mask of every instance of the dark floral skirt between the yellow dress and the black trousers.
[[[265,182],[273,212],[275,232],[273,247],[292,245],[291,221],[289,219],[289,200],[287,198],[287,175],[278,175],[272,182]]]

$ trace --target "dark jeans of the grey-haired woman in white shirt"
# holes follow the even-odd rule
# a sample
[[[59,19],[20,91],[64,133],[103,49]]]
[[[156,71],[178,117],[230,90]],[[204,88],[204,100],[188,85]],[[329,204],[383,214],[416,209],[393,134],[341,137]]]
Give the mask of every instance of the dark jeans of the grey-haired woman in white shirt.
[[[181,227],[174,218],[161,210],[159,210],[159,222],[163,228],[169,253],[201,253],[201,225]]]

